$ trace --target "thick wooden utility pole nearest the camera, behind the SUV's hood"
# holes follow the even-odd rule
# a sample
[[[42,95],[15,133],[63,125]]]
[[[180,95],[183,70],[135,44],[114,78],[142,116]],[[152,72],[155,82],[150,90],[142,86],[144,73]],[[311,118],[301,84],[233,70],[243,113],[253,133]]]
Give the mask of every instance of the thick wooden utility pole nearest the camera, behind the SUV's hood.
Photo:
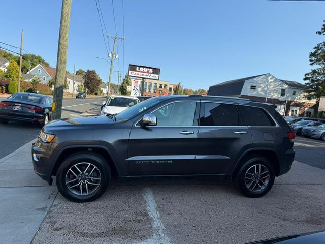
[[[61,118],[64,80],[66,79],[68,36],[71,0],[62,0],[59,42],[57,48],[56,74],[53,93],[52,118]]]

